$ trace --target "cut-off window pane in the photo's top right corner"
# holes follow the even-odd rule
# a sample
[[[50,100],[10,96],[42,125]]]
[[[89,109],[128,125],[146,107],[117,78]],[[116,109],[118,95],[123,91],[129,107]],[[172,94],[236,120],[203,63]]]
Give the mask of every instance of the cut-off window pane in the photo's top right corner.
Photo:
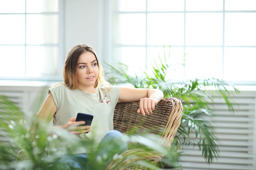
[[[256,10],[255,0],[225,0],[226,11],[250,11]]]

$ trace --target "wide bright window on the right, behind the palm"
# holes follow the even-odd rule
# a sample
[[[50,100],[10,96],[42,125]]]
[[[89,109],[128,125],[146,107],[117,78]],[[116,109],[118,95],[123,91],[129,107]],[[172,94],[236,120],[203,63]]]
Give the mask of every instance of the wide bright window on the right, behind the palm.
[[[164,57],[170,78],[256,84],[255,0],[112,0],[112,64],[131,72]],[[184,55],[185,54],[185,55]]]

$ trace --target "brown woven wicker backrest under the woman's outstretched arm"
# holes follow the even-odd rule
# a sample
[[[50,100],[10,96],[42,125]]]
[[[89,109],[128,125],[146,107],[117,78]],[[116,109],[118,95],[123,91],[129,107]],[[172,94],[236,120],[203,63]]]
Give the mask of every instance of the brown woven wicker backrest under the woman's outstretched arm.
[[[160,144],[170,147],[171,142],[180,126],[182,118],[182,102],[170,97],[162,99],[153,114],[143,116],[137,113],[139,102],[118,103],[114,114],[114,129],[128,132],[135,126],[139,130],[148,130],[154,134],[161,134]]]

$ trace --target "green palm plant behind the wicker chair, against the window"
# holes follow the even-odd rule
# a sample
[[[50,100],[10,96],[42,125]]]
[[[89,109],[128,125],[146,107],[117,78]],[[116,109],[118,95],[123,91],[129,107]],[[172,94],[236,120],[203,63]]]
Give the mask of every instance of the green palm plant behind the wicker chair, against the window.
[[[165,48],[165,47],[163,47]],[[169,46],[169,49],[171,46]],[[187,145],[198,145],[202,155],[207,163],[212,163],[213,159],[219,157],[218,142],[219,139],[214,135],[214,127],[209,117],[211,109],[209,104],[213,104],[209,91],[220,95],[230,110],[234,106],[229,99],[230,92],[228,89],[239,93],[238,89],[223,79],[214,77],[187,79],[180,82],[174,82],[167,79],[166,75],[173,71],[174,65],[168,61],[169,55],[155,58],[155,63],[151,68],[145,68],[142,75],[132,74],[128,71],[128,66],[124,63],[118,63],[111,66],[106,64],[108,72],[106,77],[112,84],[131,84],[135,88],[158,88],[164,92],[164,97],[176,97],[183,103],[182,123],[177,131],[175,140],[172,145],[176,149],[181,149]],[[207,118],[208,117],[208,118]],[[191,138],[194,133],[196,139]]]

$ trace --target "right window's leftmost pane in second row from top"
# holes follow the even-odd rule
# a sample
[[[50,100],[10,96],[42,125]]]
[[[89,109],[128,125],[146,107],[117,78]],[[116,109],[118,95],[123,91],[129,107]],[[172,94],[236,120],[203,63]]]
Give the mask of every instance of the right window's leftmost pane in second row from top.
[[[112,41],[125,45],[144,45],[146,39],[145,14],[121,14],[113,16]]]

